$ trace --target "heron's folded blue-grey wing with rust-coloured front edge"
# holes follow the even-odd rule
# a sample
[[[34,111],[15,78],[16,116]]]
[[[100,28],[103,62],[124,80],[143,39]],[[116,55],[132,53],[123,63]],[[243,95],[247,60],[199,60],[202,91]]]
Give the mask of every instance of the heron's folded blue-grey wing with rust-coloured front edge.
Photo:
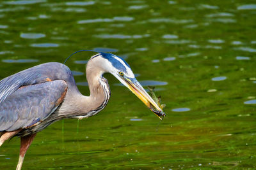
[[[56,110],[66,92],[63,80],[20,87],[0,104],[0,131],[15,131],[44,120]]]

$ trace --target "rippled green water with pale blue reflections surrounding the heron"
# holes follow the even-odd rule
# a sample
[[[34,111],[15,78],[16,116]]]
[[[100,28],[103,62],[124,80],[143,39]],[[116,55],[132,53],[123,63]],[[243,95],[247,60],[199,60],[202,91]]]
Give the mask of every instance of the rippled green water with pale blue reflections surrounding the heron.
[[[38,133],[23,169],[255,169],[255,14],[250,0],[1,1],[1,79],[95,49],[124,57],[166,103],[161,121],[106,74],[108,106]],[[93,54],[67,62],[84,95]],[[0,169],[18,157],[14,138]]]

